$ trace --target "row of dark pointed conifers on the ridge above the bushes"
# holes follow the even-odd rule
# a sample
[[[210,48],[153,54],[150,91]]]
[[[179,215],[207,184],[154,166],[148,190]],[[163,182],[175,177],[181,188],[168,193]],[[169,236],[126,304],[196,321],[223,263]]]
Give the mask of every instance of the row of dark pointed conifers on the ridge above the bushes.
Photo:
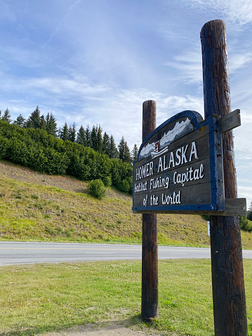
[[[7,123],[12,123],[8,107],[4,111],[3,116],[1,116],[0,111],[0,119]],[[41,115],[38,106],[27,119],[20,114],[18,118],[13,121],[13,124],[22,128],[45,130],[46,133],[64,141],[77,143],[84,147],[91,147],[95,152],[105,153],[110,159],[121,159],[124,162],[132,163],[138,157],[137,145],[134,145],[130,151],[124,136],[121,137],[121,141],[119,145],[117,145],[113,135],[108,135],[106,132],[102,134],[100,125],[93,125],[93,128],[90,128],[89,125],[84,128],[84,126],[81,125],[79,130],[77,130],[75,123],[68,127],[65,122],[64,126],[58,128],[53,114],[48,113],[46,117],[44,117],[44,114]]]

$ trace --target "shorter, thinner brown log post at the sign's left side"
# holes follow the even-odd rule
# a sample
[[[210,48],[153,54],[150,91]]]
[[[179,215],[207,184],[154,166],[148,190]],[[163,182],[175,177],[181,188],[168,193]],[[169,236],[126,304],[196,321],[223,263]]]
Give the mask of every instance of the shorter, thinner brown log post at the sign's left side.
[[[142,104],[142,142],[156,128],[156,102]],[[142,214],[142,320],[159,314],[157,214]]]

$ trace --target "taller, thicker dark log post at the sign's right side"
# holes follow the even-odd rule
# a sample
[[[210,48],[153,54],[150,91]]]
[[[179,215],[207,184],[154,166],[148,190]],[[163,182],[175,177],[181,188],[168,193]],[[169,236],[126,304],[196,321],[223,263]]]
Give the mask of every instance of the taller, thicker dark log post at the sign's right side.
[[[231,112],[225,22],[201,29],[205,118]],[[232,131],[223,135],[225,199],[237,198]],[[246,336],[246,302],[239,217],[211,216],[211,263],[215,336]]]

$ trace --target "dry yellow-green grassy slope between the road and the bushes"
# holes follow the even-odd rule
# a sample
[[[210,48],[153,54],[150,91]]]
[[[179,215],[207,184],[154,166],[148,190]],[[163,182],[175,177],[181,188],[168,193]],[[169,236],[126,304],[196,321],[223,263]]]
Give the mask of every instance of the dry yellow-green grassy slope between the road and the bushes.
[[[37,173],[0,161],[0,239],[141,243],[142,216],[131,211],[131,196],[114,188],[98,201],[87,182]],[[159,215],[159,244],[209,245],[199,215]],[[252,234],[242,231],[244,248]]]

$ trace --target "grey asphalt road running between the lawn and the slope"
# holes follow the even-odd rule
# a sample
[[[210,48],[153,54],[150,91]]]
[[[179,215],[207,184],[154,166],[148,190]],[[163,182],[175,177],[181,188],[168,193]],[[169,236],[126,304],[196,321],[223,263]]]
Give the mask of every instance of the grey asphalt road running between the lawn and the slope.
[[[252,258],[251,250],[243,256]],[[141,260],[142,246],[86,243],[0,242],[0,266],[44,262]],[[210,248],[159,246],[159,259],[210,258]]]

